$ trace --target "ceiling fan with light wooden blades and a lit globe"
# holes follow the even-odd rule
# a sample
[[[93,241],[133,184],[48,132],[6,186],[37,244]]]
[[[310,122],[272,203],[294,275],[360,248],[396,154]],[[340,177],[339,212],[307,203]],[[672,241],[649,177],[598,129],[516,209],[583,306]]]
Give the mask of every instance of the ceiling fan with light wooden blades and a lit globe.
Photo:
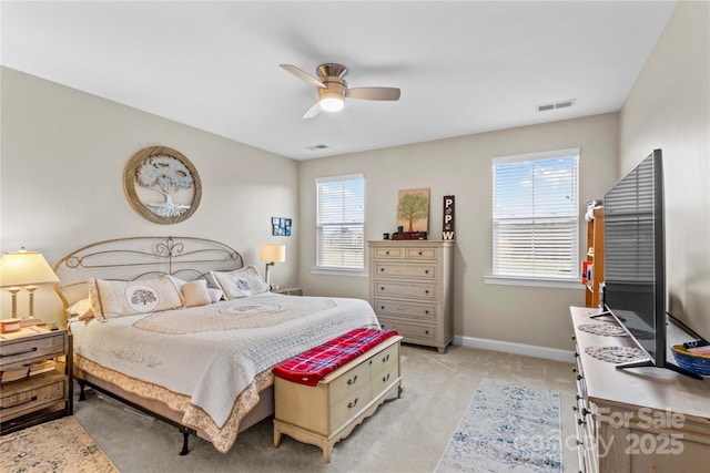
[[[345,97],[359,100],[399,100],[400,91],[396,88],[354,88],[348,89],[345,75],[347,68],[341,64],[325,63],[315,70],[318,78],[314,78],[295,65],[280,64],[283,69],[300,78],[318,90],[318,101],[303,114],[304,119],[313,119],[322,110],[337,112],[345,105]]]

